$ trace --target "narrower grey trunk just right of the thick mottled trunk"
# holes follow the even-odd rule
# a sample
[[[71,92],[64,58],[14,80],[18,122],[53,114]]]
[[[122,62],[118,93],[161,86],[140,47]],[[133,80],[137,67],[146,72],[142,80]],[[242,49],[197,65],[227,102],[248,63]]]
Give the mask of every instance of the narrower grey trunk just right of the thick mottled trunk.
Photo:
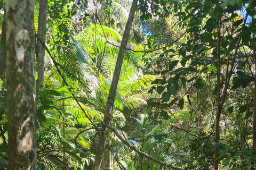
[[[37,80],[38,87],[44,84],[44,55],[45,55],[45,36],[46,36],[46,20],[47,20],[47,5],[48,0],[39,1],[39,14],[38,14],[38,30],[37,36],[43,41],[37,40],[36,46],[36,71],[37,71]],[[43,87],[39,88],[43,90]]]

